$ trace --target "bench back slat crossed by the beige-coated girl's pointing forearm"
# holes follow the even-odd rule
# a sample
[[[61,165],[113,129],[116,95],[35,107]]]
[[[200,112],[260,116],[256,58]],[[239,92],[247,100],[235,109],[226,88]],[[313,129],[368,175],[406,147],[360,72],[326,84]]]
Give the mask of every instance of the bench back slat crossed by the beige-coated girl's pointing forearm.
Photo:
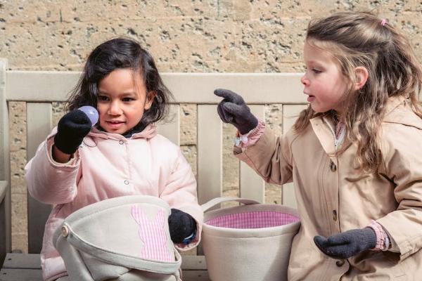
[[[264,120],[265,106],[264,105],[249,105],[250,111],[257,118]],[[255,173],[245,162],[241,162],[240,172],[240,197],[246,199],[257,200],[263,203],[265,197],[265,183],[262,178]]]

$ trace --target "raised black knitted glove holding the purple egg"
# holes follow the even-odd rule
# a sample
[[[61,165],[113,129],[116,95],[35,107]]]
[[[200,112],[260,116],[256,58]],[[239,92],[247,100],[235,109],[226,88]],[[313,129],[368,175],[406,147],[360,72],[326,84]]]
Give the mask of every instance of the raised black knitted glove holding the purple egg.
[[[88,116],[81,110],[72,110],[58,122],[54,145],[63,153],[73,154],[90,130],[91,121]]]

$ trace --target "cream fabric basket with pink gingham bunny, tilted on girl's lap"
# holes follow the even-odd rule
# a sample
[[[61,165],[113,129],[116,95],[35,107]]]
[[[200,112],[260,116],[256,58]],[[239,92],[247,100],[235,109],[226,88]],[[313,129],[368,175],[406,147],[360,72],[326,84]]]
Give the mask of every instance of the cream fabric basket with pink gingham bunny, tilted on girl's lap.
[[[70,214],[53,244],[72,281],[181,281],[181,256],[168,227],[170,206],[133,195],[90,204]]]

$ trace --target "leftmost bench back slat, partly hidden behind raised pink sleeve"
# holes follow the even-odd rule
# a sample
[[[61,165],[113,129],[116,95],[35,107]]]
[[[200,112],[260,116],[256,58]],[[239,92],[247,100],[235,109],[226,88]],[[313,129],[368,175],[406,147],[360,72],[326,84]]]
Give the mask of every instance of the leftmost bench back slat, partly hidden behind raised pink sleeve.
[[[51,131],[51,103],[27,103],[27,159],[34,157],[39,144]],[[28,194],[28,252],[41,251],[44,226],[51,206],[34,200]]]

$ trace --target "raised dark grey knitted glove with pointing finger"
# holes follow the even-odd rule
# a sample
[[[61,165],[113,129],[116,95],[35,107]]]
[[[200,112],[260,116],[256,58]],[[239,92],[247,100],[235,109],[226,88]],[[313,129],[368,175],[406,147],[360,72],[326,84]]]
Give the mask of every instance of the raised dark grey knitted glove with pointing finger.
[[[224,98],[217,106],[218,115],[224,123],[234,125],[242,135],[255,129],[258,119],[250,113],[241,96],[224,89],[216,89],[214,94]]]

